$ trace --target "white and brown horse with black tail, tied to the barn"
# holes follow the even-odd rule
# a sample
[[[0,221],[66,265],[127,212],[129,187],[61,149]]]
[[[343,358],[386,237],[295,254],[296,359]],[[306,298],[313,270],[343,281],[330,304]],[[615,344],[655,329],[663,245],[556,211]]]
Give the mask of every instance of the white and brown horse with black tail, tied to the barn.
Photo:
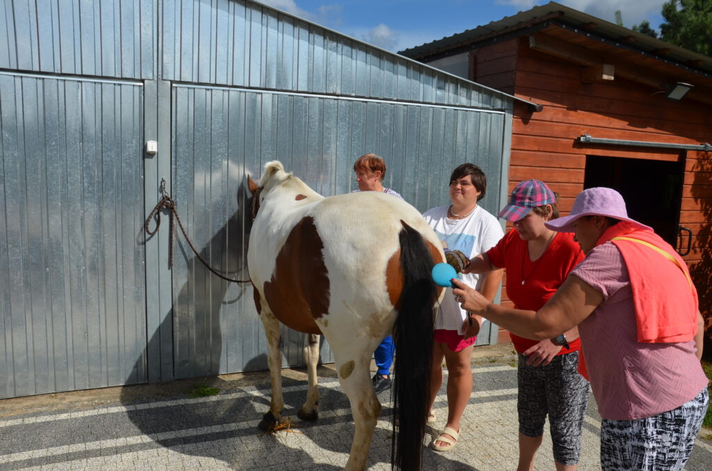
[[[259,184],[248,177],[248,187],[248,271],[268,339],[272,385],[270,409],[259,427],[283,420],[280,322],[308,334],[308,391],[298,417],[318,417],[316,364],[323,334],[355,422],[345,470],[364,470],[381,412],[370,360],[392,333],[397,354],[391,467],[420,470],[434,308],[442,296],[430,272],[445,260],[436,234],[405,201],[377,191],[325,198],[277,161],[265,165]]]

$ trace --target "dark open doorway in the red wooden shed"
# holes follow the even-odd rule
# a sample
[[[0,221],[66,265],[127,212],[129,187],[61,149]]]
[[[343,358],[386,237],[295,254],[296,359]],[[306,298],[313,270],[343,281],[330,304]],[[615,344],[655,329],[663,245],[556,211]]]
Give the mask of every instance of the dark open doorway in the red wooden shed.
[[[628,216],[677,247],[684,155],[678,162],[586,156],[584,188],[607,186],[625,199]]]

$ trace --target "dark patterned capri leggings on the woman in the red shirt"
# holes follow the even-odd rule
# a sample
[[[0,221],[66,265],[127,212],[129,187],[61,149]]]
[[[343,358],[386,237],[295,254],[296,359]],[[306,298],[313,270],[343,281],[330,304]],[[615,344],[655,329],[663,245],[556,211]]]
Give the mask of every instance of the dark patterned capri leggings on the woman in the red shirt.
[[[549,416],[554,460],[562,465],[576,465],[581,455],[583,420],[590,386],[578,374],[578,352],[557,355],[544,366],[526,365],[519,356],[517,411],[519,431],[528,437],[544,433]]]

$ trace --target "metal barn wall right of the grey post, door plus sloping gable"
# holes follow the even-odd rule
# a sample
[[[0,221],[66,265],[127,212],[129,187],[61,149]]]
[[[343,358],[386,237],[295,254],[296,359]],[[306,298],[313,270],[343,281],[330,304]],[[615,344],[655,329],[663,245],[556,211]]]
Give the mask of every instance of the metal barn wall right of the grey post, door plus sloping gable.
[[[197,249],[222,271],[246,277],[239,186],[273,159],[329,196],[355,189],[354,160],[376,152],[387,186],[420,211],[448,203],[451,170],[476,162],[492,184],[482,206],[498,207],[511,106],[501,94],[259,4],[165,5],[162,78],[177,82],[172,194]],[[206,275],[182,250],[172,272],[175,375],[266,369],[251,290]],[[487,322],[478,344],[492,334]],[[283,364],[303,364],[303,335],[284,328],[283,337]],[[332,359],[328,345],[322,359]]]

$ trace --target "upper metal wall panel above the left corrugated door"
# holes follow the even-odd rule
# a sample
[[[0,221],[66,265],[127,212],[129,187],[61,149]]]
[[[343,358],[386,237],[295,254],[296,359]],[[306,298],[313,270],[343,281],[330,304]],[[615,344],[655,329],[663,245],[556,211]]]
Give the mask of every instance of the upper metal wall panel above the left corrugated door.
[[[159,0],[5,0],[0,68],[152,78]]]

